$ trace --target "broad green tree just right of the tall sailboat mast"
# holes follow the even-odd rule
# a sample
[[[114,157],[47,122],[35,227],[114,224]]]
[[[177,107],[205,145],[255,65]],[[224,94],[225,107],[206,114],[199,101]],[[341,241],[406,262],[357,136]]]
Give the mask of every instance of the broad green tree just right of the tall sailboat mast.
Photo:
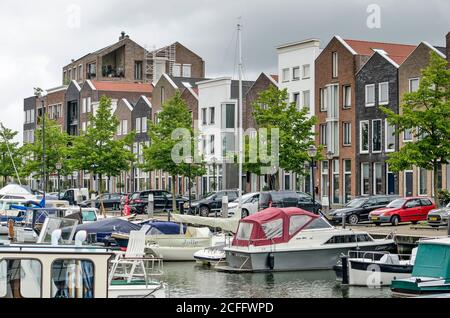
[[[267,129],[267,135],[258,134],[257,160],[249,162],[251,158],[250,138],[245,141],[245,169],[248,172],[262,175],[262,167],[267,166],[267,154],[276,152],[272,139],[273,129],[279,130],[279,167],[285,171],[294,172],[297,175],[306,175],[305,163],[310,161],[308,149],[314,145],[313,127],[317,120],[308,118],[308,109],[297,109],[295,102],[288,102],[287,90],[278,90],[271,86],[259,94],[253,103],[253,116],[259,128]],[[261,142],[262,141],[262,142]],[[268,151],[261,149],[260,144],[267,147]],[[254,157],[254,154],[253,154]],[[256,162],[255,162],[256,161]],[[278,169],[276,174],[269,177],[269,188],[278,189]]]

